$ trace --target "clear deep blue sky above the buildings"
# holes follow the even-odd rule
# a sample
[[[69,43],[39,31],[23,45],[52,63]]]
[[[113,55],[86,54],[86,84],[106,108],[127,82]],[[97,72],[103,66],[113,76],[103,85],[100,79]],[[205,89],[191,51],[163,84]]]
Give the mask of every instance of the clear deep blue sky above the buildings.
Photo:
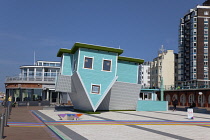
[[[0,91],[6,76],[36,60],[60,61],[75,42],[124,49],[152,61],[158,49],[178,52],[179,19],[205,0],[0,0]]]

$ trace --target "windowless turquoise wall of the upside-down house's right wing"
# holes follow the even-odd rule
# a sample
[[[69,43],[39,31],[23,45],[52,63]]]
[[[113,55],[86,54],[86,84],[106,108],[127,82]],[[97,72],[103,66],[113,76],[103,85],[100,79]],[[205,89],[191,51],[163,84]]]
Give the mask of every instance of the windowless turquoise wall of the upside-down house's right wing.
[[[127,83],[137,83],[138,65],[133,62],[118,61],[117,65],[117,81]]]

